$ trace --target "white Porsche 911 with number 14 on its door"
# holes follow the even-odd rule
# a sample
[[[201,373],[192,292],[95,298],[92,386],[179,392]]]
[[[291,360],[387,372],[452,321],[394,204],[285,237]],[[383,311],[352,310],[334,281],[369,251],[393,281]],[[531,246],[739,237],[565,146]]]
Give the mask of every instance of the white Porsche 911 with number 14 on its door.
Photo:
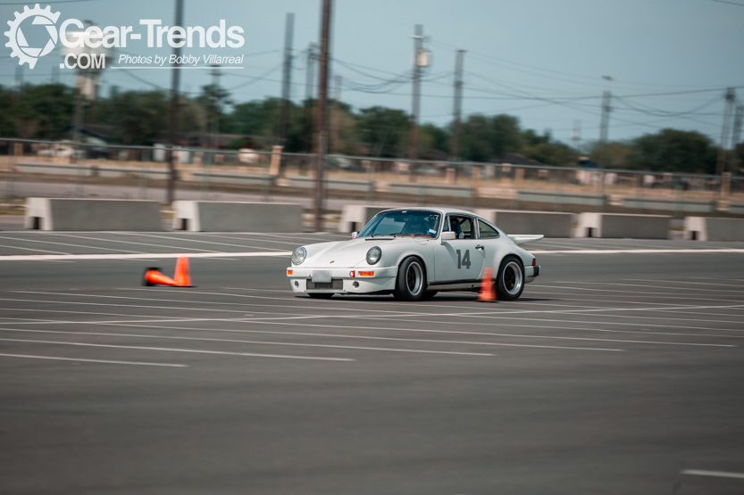
[[[419,301],[440,291],[478,292],[491,268],[498,299],[514,301],[540,273],[535,257],[518,244],[542,235],[506,235],[465,210],[380,211],[351,236],[295,249],[287,268],[292,291],[314,298],[392,293]]]

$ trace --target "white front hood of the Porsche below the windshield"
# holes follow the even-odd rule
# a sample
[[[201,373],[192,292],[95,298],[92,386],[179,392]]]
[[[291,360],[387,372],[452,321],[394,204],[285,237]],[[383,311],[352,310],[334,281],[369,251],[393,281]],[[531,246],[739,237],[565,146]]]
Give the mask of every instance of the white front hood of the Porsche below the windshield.
[[[382,258],[384,259],[386,250],[401,243],[422,243],[422,239],[412,239],[411,237],[380,237],[372,240],[367,237],[336,243],[311,244],[305,246],[307,260],[305,260],[302,266],[312,268],[368,266],[366,257],[367,252],[372,246],[380,247]]]

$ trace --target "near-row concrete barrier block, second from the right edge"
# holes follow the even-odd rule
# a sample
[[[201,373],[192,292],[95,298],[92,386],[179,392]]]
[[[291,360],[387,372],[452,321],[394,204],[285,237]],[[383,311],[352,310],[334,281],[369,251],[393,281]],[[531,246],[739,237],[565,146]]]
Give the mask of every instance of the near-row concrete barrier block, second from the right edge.
[[[666,215],[623,215],[580,213],[579,237],[668,239],[672,217]]]

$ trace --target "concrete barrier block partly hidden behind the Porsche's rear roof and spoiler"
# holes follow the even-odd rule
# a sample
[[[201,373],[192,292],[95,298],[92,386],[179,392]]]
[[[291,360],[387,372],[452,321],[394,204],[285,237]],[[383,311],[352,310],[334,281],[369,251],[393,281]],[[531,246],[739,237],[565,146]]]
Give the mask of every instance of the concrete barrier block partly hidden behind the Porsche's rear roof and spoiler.
[[[571,237],[575,215],[554,211],[475,210],[506,234],[542,234]]]

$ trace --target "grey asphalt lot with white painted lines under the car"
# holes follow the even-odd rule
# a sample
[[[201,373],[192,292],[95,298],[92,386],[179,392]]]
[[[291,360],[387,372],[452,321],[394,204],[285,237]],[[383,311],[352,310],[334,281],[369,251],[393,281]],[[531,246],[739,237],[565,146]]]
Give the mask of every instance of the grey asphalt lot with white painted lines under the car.
[[[0,232],[0,492],[744,491],[744,243],[547,239],[514,302],[295,297],[337,234]],[[190,256],[194,288],[144,287]]]

